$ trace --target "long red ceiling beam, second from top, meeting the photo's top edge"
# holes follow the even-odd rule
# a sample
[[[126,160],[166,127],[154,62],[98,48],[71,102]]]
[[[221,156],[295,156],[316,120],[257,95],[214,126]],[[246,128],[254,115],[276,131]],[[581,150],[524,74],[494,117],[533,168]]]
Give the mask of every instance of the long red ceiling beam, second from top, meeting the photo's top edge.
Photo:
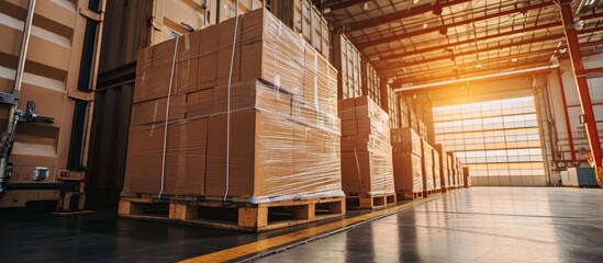
[[[456,26],[466,25],[466,24],[470,24],[470,23],[474,23],[474,22],[479,22],[479,21],[484,21],[484,20],[489,20],[489,19],[510,15],[510,14],[514,14],[514,13],[524,13],[524,12],[527,12],[529,10],[541,9],[541,8],[552,5],[552,4],[555,4],[552,1],[546,1],[546,2],[540,2],[540,3],[529,4],[529,5],[526,5],[526,7],[523,7],[523,8],[510,9],[510,10],[502,11],[502,12],[499,12],[499,13],[487,14],[487,15],[482,15],[482,16],[479,16],[479,18],[473,18],[473,19],[469,19],[469,20],[464,20],[464,21],[450,23],[450,24],[447,24],[447,25],[439,25],[439,26],[428,27],[428,28],[425,28],[425,30],[418,30],[418,31],[415,31],[415,32],[409,32],[409,33],[405,33],[405,34],[393,35],[393,36],[389,36],[389,37],[382,37],[382,38],[375,39],[375,41],[361,42],[361,43],[358,43],[356,45],[356,47],[361,50],[361,49],[366,49],[367,47],[376,46],[376,45],[379,45],[379,44],[386,44],[386,43],[400,41],[400,39],[404,39],[404,38],[409,38],[409,37],[413,37],[413,36],[418,36],[418,35],[423,35],[423,34],[440,32],[440,31],[447,30],[448,27],[456,27]]]

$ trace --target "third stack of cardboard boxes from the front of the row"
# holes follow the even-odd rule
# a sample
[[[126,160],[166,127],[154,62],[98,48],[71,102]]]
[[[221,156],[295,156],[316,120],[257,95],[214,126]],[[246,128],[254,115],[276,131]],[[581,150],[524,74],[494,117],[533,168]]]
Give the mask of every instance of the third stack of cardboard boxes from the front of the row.
[[[395,192],[413,196],[423,192],[421,137],[411,128],[391,130]]]

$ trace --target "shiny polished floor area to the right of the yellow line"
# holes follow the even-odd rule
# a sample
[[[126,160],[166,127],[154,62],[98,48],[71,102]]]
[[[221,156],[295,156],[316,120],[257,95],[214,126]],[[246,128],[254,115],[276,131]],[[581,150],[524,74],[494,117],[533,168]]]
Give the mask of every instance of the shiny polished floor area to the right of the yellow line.
[[[473,187],[259,262],[603,262],[603,191]]]

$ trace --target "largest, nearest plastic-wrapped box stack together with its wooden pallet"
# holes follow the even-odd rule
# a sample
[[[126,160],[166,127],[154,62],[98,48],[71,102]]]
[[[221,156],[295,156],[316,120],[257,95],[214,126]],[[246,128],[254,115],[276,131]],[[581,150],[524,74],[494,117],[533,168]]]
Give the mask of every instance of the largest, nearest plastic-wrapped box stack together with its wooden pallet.
[[[252,11],[139,53],[120,216],[264,231],[345,215],[337,72],[280,23]]]

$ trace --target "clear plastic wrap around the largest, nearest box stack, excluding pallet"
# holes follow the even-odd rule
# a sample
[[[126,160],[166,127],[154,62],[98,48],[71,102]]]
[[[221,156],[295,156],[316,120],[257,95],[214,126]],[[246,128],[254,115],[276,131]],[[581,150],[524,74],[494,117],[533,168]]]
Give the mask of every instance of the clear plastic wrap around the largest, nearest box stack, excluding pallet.
[[[131,126],[123,193],[253,204],[344,196],[340,121],[334,114],[337,72],[320,58],[306,68],[304,54],[313,49],[265,10],[238,18],[235,46],[234,27],[228,20],[191,33],[200,35],[200,50],[187,53],[187,61],[199,60],[196,78],[190,76],[194,70],[180,72],[179,48],[187,46],[180,42],[141,52],[146,66],[137,73],[164,78],[136,82],[133,117],[141,121]],[[231,59],[220,56],[225,50],[238,53],[231,83],[223,82]],[[154,68],[157,57],[160,64],[171,61],[174,70]],[[313,79],[314,94],[308,98],[305,77]]]

